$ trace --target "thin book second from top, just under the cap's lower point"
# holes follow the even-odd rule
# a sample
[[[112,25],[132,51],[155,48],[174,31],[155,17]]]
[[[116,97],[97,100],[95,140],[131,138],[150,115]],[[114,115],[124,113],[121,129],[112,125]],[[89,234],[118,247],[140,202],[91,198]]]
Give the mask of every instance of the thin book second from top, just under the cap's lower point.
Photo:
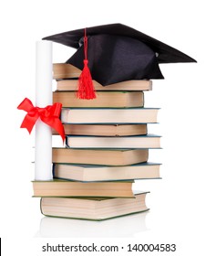
[[[57,80],[57,91],[77,91],[77,79]],[[152,91],[151,80],[125,80],[118,83],[102,86],[93,80],[95,91]]]

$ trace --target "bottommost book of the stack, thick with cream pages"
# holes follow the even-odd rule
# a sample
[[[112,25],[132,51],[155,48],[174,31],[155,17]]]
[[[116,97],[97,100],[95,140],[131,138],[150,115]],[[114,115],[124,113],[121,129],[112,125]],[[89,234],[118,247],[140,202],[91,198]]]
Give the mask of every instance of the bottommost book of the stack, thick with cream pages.
[[[105,220],[149,210],[148,192],[139,192],[134,198],[64,198],[42,197],[41,212],[49,217]]]

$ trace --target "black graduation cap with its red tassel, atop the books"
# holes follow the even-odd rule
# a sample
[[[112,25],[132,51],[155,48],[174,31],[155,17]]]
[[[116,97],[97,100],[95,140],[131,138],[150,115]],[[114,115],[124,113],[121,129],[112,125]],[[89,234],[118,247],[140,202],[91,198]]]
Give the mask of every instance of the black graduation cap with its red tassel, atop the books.
[[[96,97],[89,92],[94,91],[93,84],[83,87],[91,76],[103,86],[124,80],[163,79],[159,63],[196,62],[180,50],[122,24],[87,27],[43,39],[77,48],[67,63],[83,69],[79,79],[82,99]]]

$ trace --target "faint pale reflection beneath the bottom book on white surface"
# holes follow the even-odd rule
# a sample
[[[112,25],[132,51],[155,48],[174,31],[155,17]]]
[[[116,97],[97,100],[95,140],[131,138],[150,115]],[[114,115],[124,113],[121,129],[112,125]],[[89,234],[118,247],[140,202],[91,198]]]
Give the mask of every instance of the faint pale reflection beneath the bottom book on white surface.
[[[149,211],[116,219],[90,221],[81,219],[41,219],[36,238],[133,238],[148,230],[146,217]]]

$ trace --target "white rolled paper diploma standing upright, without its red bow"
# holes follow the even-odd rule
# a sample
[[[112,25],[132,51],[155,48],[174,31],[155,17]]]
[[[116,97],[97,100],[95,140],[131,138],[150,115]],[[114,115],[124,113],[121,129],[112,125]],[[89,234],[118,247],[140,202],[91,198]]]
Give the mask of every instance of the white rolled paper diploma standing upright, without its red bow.
[[[52,104],[52,42],[36,42],[36,107]],[[36,121],[35,180],[52,180],[52,130]]]

